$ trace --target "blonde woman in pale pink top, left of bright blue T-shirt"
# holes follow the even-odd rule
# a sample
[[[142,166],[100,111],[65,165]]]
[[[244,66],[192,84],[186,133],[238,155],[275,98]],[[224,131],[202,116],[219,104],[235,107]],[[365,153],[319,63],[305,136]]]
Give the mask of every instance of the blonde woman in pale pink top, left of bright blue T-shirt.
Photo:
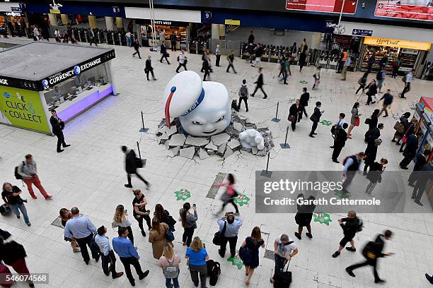
[[[158,260],[158,266],[162,268],[163,275],[166,277],[166,288],[179,288],[179,264],[180,256],[174,253],[173,247],[169,244],[164,245],[163,255]],[[171,281],[173,281],[173,286]]]

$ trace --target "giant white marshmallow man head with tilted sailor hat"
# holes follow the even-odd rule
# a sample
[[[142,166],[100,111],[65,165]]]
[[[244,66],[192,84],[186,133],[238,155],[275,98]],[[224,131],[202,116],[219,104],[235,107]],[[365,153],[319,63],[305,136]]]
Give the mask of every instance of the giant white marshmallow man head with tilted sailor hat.
[[[231,121],[231,100],[226,86],[203,82],[193,71],[171,78],[164,91],[166,125],[179,117],[190,136],[212,136],[226,130]]]

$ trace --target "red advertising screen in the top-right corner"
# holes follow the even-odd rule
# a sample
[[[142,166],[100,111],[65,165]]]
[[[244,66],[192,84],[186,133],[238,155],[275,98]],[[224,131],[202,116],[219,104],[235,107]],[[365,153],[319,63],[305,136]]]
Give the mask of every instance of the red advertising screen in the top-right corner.
[[[374,16],[433,21],[431,0],[379,0]]]

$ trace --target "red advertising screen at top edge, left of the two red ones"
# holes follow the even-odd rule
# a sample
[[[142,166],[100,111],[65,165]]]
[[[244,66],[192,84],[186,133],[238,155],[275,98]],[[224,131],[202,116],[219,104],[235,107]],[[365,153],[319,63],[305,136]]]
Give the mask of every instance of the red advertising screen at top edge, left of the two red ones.
[[[342,0],[287,0],[287,10],[340,13]],[[354,14],[357,11],[357,0],[346,0],[342,13]]]

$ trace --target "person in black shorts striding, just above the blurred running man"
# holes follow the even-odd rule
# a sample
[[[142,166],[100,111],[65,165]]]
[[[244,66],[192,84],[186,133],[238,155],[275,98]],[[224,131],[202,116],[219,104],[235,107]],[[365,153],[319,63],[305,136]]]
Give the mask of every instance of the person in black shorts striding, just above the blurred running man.
[[[333,258],[340,256],[340,253],[346,244],[350,242],[350,247],[346,247],[347,251],[355,252],[357,248],[354,246],[354,236],[357,232],[362,231],[362,220],[357,217],[357,212],[350,210],[347,212],[347,217],[338,220],[340,227],[343,230],[344,237],[340,241],[338,250],[333,253]]]

